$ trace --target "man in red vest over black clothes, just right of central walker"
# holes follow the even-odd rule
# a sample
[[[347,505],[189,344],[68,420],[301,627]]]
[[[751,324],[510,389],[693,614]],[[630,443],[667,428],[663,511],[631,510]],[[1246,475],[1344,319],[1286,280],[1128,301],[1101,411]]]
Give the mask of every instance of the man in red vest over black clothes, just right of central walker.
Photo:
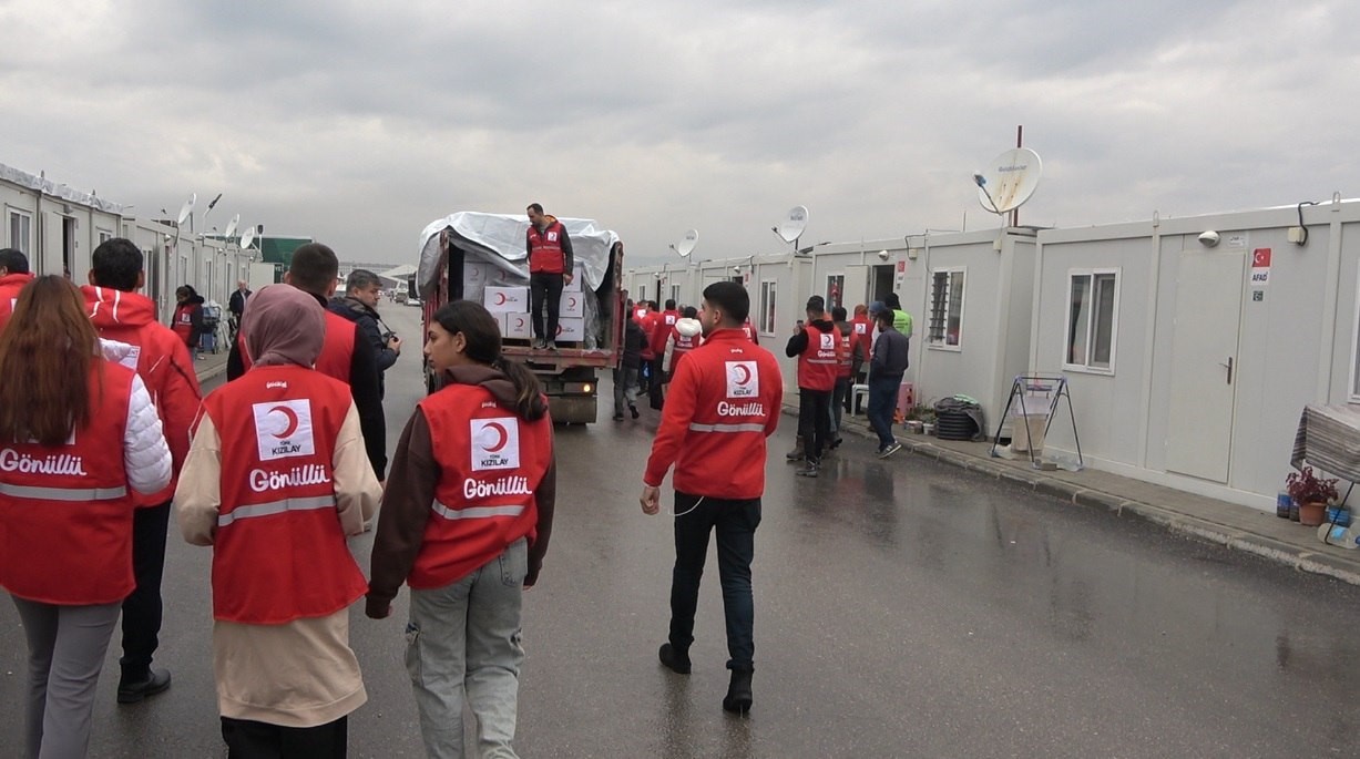
[[[840,332],[827,318],[821,295],[808,298],[808,322],[800,322],[785,355],[798,359],[798,437],[802,438],[804,468],[797,473],[816,477],[821,452],[831,434],[831,393],[840,367]],[[794,457],[797,458],[797,457]]]

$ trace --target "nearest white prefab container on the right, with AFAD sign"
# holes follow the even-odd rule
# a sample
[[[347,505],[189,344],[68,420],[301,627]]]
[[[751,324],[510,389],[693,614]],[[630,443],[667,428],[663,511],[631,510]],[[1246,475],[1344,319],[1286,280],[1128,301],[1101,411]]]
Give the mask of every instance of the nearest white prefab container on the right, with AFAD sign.
[[[1360,404],[1360,203],[1043,230],[1034,287],[1089,465],[1272,509],[1303,407]]]

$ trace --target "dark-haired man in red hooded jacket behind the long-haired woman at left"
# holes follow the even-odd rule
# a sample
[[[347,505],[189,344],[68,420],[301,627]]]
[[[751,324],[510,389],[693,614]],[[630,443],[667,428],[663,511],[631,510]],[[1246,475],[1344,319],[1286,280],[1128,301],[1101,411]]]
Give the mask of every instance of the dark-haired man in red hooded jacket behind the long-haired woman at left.
[[[82,287],[99,336],[129,345],[124,366],[141,377],[160,418],[174,475],[189,453],[189,428],[199,414],[199,378],[180,336],[156,321],[156,306],[139,295],[146,284],[141,250],[124,238],[106,239],[90,254],[90,284]],[[132,571],[136,589],[122,601],[122,675],[118,703],[136,703],[170,687],[167,669],[152,669],[160,632],[160,577],[174,480],[154,495],[136,496],[132,518]]]

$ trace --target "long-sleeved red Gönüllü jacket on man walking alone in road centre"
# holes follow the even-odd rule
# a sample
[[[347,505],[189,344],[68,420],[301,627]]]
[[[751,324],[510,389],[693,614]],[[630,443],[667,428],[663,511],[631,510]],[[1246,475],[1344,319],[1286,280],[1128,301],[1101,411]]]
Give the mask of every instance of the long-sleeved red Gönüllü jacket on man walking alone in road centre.
[[[675,464],[680,492],[759,498],[783,403],[779,363],[741,329],[717,329],[676,369],[642,482],[660,487]]]

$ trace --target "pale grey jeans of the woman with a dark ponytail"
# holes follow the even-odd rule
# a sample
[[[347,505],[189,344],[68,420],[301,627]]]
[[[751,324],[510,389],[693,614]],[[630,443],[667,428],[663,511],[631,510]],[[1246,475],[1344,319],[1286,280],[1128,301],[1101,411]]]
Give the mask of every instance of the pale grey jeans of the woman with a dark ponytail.
[[[520,695],[520,609],[529,573],[525,539],[468,577],[411,592],[407,671],[426,754],[464,755],[462,703],[477,724],[477,756],[513,758]]]

